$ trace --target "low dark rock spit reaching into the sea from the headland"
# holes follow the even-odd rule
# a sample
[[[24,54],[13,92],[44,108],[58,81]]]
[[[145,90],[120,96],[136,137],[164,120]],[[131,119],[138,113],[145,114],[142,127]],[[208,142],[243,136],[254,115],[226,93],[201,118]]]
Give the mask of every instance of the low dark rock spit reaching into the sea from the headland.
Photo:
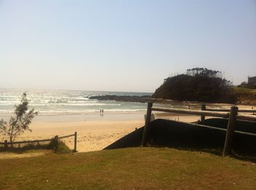
[[[151,98],[149,95],[143,95],[143,96],[128,96],[128,95],[97,95],[97,96],[91,96],[89,99],[94,100],[116,100],[121,102],[140,102],[140,103],[146,103],[147,100]]]

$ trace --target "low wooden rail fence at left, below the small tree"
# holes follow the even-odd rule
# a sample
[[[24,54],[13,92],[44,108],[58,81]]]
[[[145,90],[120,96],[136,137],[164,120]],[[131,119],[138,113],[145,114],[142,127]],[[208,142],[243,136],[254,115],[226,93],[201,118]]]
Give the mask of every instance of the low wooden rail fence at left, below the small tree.
[[[74,152],[77,151],[77,140],[78,140],[78,133],[75,132],[72,135],[65,135],[65,136],[61,136],[59,137],[58,135],[56,135],[54,138],[49,138],[49,139],[44,139],[44,140],[23,140],[23,141],[15,141],[15,142],[8,142],[7,140],[4,140],[4,143],[0,142],[0,145],[4,146],[4,150],[8,149],[8,145],[18,145],[18,148],[20,148],[20,144],[31,144],[31,143],[42,143],[42,142],[51,142],[53,140],[59,140],[62,138],[69,138],[74,136]]]

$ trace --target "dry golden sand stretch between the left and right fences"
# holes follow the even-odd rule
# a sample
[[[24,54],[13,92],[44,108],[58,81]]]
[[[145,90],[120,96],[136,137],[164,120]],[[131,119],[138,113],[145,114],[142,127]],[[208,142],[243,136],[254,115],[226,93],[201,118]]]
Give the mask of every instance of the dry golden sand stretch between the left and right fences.
[[[54,135],[69,135],[78,132],[77,149],[81,151],[98,151],[124,135],[141,127],[143,120],[134,121],[90,121],[90,122],[53,122],[34,123],[33,132],[26,133],[22,139],[45,139]],[[74,147],[74,137],[65,138],[70,149]]]

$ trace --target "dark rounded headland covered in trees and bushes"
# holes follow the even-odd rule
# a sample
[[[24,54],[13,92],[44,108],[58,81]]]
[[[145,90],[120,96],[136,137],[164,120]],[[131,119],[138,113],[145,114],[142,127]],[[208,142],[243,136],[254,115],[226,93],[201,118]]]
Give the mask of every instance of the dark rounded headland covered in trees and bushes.
[[[152,97],[182,101],[236,102],[232,83],[220,76],[220,71],[207,68],[188,69],[187,74],[165,79]]]

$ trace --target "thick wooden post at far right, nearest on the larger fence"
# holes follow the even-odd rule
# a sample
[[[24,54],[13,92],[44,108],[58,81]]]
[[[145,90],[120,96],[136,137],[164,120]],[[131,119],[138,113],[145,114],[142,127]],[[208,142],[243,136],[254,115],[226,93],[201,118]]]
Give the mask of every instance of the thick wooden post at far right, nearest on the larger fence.
[[[236,128],[237,114],[238,114],[238,107],[232,106],[230,108],[230,117],[228,119],[228,124],[227,124],[227,132],[226,132],[226,138],[225,138],[225,145],[223,149],[223,156],[227,156],[230,154],[232,143],[233,143],[233,136]]]

